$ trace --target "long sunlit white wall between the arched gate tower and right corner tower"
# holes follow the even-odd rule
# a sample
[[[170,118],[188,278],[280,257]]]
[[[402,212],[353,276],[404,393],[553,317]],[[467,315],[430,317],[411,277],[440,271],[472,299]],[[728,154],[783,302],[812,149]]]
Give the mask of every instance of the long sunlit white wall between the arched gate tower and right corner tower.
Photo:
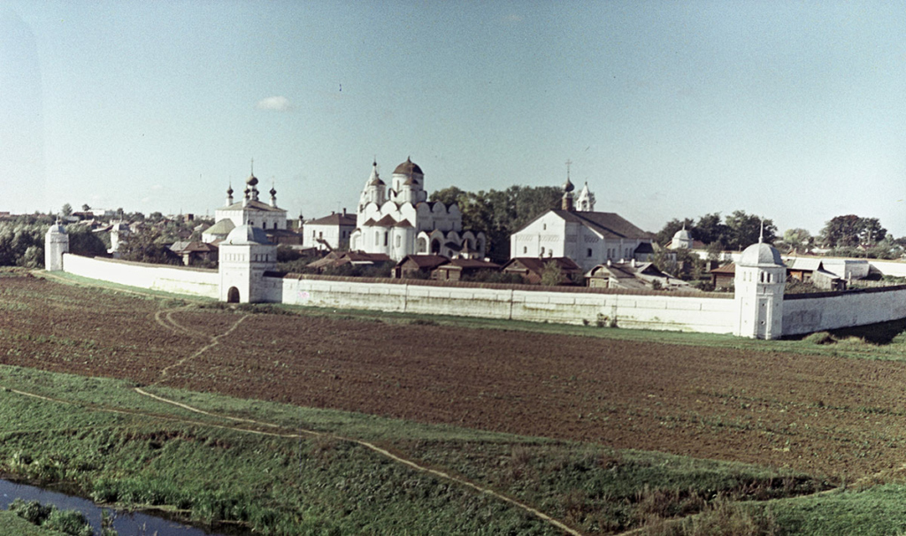
[[[265,277],[267,301],[371,311],[450,314],[518,321],[731,333],[734,301],[704,296],[550,292],[429,284]]]

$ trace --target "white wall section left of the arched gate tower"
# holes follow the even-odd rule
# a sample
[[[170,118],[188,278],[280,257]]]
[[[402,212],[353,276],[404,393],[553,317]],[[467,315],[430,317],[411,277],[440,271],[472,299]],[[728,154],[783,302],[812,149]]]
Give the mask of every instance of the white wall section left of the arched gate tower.
[[[220,276],[217,270],[130,263],[64,254],[63,272],[154,291],[214,299],[220,297]]]

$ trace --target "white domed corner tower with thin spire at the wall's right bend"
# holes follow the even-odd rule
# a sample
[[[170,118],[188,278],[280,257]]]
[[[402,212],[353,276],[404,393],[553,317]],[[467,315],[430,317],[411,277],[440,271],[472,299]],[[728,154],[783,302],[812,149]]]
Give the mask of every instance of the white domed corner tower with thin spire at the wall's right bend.
[[[733,334],[750,339],[783,335],[786,266],[772,245],[764,243],[764,223],[758,244],[743,251],[736,267],[737,320]]]

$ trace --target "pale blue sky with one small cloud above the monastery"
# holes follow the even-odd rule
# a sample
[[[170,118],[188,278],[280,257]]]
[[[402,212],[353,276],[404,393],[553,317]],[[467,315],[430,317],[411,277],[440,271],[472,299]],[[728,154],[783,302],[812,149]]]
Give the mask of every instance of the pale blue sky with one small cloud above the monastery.
[[[735,210],[906,235],[901,2],[0,1],[0,211],[289,215],[587,182],[657,232]]]

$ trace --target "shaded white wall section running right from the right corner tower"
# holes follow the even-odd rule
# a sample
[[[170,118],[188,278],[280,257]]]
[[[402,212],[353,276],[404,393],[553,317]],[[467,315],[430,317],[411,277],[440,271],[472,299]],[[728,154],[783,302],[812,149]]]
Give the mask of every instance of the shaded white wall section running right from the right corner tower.
[[[906,318],[906,286],[787,297],[783,311],[784,335],[895,321]]]

